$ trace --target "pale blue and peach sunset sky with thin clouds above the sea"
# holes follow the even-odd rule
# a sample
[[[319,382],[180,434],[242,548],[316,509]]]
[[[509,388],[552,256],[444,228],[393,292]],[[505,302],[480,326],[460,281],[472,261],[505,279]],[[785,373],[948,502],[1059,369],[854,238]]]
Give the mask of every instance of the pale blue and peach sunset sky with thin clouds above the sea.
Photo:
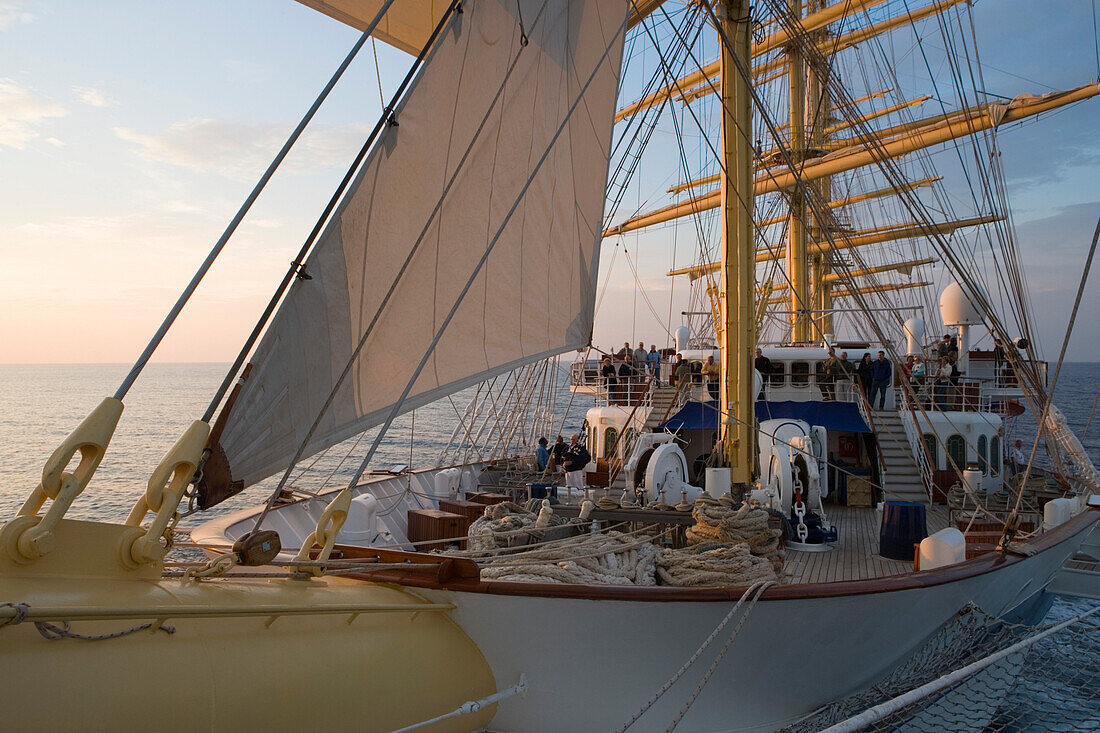
[[[974,12],[991,91],[1096,78],[1087,0]],[[356,37],[292,0],[0,0],[0,363],[132,361]],[[157,360],[235,355],[377,118],[378,77],[388,97],[408,64],[382,43],[363,50]],[[1100,99],[1001,135],[1050,359],[1100,216],[1098,122]],[[668,251],[624,243],[634,269],[604,248],[594,341],[664,343],[659,320],[679,325],[686,288],[663,275]],[[1072,360],[1100,361],[1098,277]]]

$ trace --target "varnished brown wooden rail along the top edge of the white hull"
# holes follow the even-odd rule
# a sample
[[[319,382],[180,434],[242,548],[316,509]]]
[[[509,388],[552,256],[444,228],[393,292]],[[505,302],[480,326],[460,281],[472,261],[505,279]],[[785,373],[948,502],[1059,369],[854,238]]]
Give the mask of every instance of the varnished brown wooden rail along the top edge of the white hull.
[[[1081,512],[1062,526],[1040,535],[1031,546],[1045,551],[1088,532],[1100,521],[1100,511],[1090,508]],[[415,555],[415,554],[409,554]],[[438,556],[422,556],[433,558]],[[793,586],[773,586],[760,597],[761,601],[789,601],[798,599],[838,598],[843,595],[866,595],[869,593],[887,593],[919,588],[931,588],[944,583],[956,582],[1000,570],[1026,558],[1018,555],[990,553],[972,560],[957,565],[924,570],[887,578],[868,580],[843,580],[828,583],[798,583]],[[747,586],[727,586],[722,588],[671,588],[667,586],[584,586],[570,583],[528,583],[503,580],[455,579],[446,584],[436,582],[431,577],[400,570],[380,570],[372,573],[361,573],[364,580],[392,582],[410,588],[447,589],[468,593],[488,593],[493,595],[519,595],[537,598],[583,599],[593,601],[646,601],[646,602],[708,602],[737,601],[747,590]]]

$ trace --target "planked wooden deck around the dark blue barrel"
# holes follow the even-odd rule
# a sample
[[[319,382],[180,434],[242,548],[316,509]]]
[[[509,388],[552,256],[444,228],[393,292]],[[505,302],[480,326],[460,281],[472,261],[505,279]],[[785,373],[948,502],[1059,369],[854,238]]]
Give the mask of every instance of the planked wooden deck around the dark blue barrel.
[[[826,504],[829,522],[840,539],[826,553],[788,550],[784,573],[788,583],[827,583],[839,580],[884,578],[913,571],[913,561],[890,560],[879,555],[879,525],[873,508]],[[928,534],[947,526],[947,507],[932,506]]]

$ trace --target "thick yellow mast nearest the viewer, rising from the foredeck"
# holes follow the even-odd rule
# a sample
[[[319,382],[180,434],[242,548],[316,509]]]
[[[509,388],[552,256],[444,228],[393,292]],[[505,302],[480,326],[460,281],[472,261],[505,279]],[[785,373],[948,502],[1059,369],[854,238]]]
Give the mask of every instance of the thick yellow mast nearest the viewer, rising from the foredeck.
[[[722,450],[730,479],[752,481],[756,348],[756,244],[752,241],[752,108],[749,81],[734,54],[749,67],[751,15],[748,0],[722,0],[718,14],[722,92],[722,378],[718,400]]]

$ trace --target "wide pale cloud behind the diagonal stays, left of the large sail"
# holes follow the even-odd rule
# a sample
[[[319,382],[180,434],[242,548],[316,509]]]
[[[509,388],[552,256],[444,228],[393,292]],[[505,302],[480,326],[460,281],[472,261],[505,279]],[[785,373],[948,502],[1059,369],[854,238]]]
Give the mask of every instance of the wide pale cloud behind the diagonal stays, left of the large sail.
[[[363,144],[366,130],[360,124],[322,124],[307,130],[286,166],[308,173],[346,163]],[[133,143],[146,161],[244,179],[254,178],[267,166],[288,132],[288,125],[273,122],[244,124],[210,119],[176,122],[158,133],[114,129],[114,134]]]

